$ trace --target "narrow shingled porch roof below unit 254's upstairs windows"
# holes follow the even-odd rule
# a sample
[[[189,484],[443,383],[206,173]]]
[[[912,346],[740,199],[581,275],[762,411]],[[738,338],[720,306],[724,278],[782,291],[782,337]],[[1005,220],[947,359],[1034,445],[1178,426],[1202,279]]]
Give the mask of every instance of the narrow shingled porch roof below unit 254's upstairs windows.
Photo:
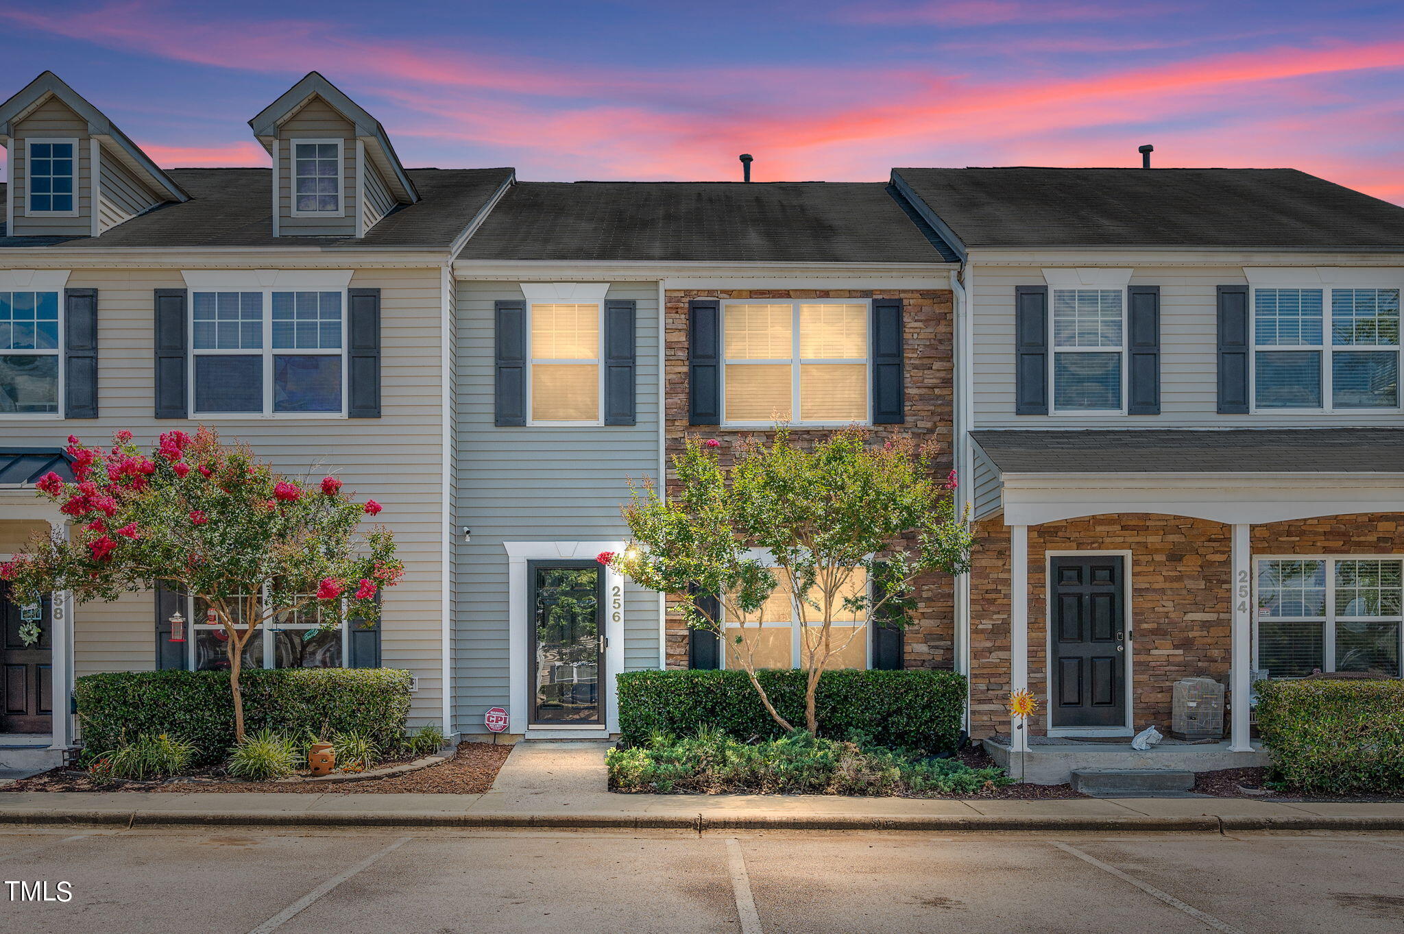
[[[981,431],[1001,473],[1404,473],[1404,428]]]

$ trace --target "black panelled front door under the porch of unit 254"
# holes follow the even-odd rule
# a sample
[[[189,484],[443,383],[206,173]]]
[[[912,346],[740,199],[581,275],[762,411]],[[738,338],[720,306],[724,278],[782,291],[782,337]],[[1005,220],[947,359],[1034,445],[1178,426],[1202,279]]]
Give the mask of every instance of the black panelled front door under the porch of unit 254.
[[[1123,558],[1053,558],[1050,576],[1053,726],[1125,726]]]

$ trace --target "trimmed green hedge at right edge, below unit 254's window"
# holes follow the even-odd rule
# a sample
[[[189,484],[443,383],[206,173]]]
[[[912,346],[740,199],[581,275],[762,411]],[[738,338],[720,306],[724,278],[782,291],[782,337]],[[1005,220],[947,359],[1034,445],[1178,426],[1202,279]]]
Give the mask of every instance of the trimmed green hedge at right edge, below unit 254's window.
[[[1404,790],[1404,682],[1258,682],[1258,732],[1278,778],[1331,792]]]

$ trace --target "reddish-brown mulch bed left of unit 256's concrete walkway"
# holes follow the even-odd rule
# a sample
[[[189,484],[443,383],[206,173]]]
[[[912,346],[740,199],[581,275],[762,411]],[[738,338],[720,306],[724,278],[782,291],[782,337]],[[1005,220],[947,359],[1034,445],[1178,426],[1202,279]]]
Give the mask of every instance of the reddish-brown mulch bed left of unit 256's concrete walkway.
[[[493,787],[497,770],[507,762],[512,747],[494,743],[469,743],[458,746],[458,756],[449,762],[418,771],[388,778],[366,778],[364,781],[239,781],[215,771],[188,778],[159,778],[152,781],[112,781],[97,784],[87,773],[73,769],[51,769],[49,771],[24,778],[0,788],[6,791],[147,791],[167,794],[219,794],[230,791],[260,791],[278,794],[448,794],[476,795]],[[409,760],[406,760],[409,762]],[[379,763],[395,764],[395,763]]]

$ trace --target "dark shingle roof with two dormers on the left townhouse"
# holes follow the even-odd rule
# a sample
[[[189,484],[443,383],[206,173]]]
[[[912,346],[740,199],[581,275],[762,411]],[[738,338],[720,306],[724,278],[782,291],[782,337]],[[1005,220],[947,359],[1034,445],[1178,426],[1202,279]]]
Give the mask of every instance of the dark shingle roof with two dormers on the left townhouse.
[[[190,192],[112,227],[101,237],[0,237],[0,247],[402,247],[448,248],[503,184],[511,168],[411,168],[421,199],[386,215],[365,237],[274,237],[271,170],[171,168]]]

